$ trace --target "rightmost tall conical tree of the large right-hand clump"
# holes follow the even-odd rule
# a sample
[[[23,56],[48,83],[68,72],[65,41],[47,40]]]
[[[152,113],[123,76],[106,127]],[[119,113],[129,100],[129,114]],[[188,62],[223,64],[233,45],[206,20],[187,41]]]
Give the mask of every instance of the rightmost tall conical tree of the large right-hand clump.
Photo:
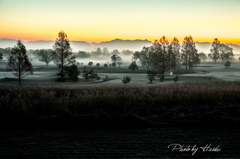
[[[186,36],[182,44],[182,60],[186,66],[186,70],[192,69],[200,63],[200,58],[197,53],[195,42],[192,36]]]

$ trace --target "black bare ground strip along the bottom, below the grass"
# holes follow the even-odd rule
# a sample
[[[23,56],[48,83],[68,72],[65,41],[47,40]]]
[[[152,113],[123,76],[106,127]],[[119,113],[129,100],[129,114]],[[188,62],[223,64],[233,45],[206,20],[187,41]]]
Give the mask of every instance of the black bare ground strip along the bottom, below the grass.
[[[0,158],[193,158],[168,145],[220,145],[198,157],[240,157],[240,129],[143,128],[96,130],[0,130]]]

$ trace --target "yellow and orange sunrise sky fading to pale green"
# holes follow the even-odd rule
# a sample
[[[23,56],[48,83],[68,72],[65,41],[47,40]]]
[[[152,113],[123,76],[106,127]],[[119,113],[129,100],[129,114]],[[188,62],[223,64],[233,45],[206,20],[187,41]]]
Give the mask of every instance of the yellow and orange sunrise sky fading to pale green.
[[[240,45],[240,0],[0,0],[0,38],[71,41],[150,40]]]

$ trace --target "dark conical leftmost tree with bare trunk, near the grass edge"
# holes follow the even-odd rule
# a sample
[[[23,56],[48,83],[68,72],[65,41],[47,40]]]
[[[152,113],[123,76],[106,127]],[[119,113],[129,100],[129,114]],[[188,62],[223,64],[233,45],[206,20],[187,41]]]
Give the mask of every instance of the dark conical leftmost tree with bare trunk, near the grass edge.
[[[8,59],[7,69],[15,71],[18,77],[18,84],[21,86],[21,79],[29,74],[33,74],[33,67],[26,54],[26,48],[20,40],[12,48],[11,55]]]

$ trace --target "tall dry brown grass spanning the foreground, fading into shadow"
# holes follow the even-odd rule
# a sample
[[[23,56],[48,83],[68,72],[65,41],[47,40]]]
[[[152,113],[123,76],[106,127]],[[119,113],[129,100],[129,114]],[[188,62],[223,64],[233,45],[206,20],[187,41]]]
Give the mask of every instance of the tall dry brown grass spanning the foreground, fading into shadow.
[[[240,118],[240,83],[208,82],[166,86],[3,86],[0,115],[131,115],[158,120]]]

